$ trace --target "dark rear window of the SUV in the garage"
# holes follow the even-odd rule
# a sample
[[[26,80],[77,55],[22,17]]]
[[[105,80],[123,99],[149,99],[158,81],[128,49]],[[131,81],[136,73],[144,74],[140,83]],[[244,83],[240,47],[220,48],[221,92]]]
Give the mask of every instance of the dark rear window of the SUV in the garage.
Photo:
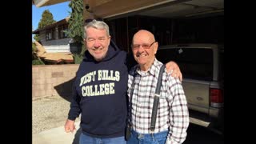
[[[174,61],[182,70],[183,78],[212,81],[213,50],[202,48],[160,49],[156,58],[163,63]]]

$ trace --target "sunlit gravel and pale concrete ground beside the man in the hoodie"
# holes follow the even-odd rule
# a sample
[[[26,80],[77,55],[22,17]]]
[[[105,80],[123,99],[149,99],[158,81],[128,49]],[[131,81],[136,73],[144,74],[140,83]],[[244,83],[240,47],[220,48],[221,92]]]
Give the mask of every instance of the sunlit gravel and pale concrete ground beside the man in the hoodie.
[[[64,124],[70,109],[70,98],[53,96],[32,102],[32,141],[33,144],[77,144],[79,120],[74,133],[66,133]]]

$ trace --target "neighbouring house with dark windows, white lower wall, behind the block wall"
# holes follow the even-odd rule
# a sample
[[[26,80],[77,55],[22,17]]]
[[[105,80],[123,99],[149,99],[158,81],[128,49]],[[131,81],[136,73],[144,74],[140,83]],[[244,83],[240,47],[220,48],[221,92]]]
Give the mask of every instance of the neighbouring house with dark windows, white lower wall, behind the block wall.
[[[72,54],[80,53],[81,47],[73,43],[72,38],[67,38],[64,30],[68,30],[69,18],[54,22],[49,26],[34,30],[32,34],[38,34],[40,42],[34,42],[44,54],[38,53],[46,63],[73,63]],[[40,50],[39,50],[40,51]]]

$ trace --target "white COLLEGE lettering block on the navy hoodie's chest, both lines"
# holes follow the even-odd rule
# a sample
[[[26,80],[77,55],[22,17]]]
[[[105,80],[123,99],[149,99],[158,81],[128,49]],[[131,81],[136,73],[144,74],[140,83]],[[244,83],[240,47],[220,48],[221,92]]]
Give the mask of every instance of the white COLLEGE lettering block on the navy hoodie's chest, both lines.
[[[103,83],[104,81],[120,80],[120,72],[114,70],[95,70],[80,78],[80,85],[82,86],[82,96],[99,96],[106,94],[114,94],[114,82]],[[98,85],[86,85],[88,82],[101,82]]]

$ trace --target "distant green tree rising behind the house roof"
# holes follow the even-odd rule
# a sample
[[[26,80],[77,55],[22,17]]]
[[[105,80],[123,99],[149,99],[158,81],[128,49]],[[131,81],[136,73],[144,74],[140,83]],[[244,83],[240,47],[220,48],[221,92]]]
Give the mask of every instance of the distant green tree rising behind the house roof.
[[[53,14],[51,14],[49,10],[44,10],[42,13],[42,18],[40,19],[40,22],[38,23],[38,29],[41,29],[44,26],[53,24],[54,22],[56,22],[56,21],[54,20]]]

